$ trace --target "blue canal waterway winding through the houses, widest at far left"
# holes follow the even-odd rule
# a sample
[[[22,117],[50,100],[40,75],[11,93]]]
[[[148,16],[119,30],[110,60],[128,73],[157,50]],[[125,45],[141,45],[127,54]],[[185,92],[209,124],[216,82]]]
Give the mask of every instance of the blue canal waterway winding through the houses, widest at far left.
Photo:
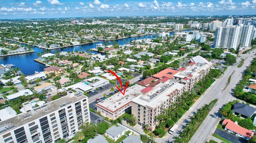
[[[190,30],[186,30],[190,31]],[[173,35],[174,33],[170,33],[170,35]],[[158,34],[156,35],[146,35],[146,36],[141,36],[141,37],[128,37],[126,39],[119,39],[115,40],[119,45],[124,45],[130,40],[134,41],[134,39],[144,39],[144,38],[156,38]],[[50,50],[50,53],[55,53],[56,51],[70,51],[72,52],[75,48],[75,51],[86,51],[88,49],[92,49],[96,47],[96,44],[105,44],[106,42],[109,42],[110,44],[113,44],[113,41],[98,41],[98,43],[91,43],[91,44],[85,44],[85,45],[78,45],[78,46],[71,46],[71,47],[65,47],[65,48],[59,48],[59,49],[52,49]],[[35,71],[44,71],[45,65],[38,63],[34,61],[34,59],[37,59],[36,53],[41,53],[44,51],[44,49],[38,48],[38,47],[33,47],[34,51],[33,53],[26,53],[22,55],[11,55],[11,56],[5,56],[5,57],[0,57],[0,64],[14,64],[15,67],[18,67],[21,69],[21,72],[24,73],[25,75],[31,75],[34,74]],[[96,53],[96,52],[93,52]]]

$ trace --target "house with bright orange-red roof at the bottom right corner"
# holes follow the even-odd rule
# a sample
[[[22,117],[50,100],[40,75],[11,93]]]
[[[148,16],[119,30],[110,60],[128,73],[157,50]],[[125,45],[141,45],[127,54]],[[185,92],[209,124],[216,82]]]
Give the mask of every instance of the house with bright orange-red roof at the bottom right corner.
[[[254,134],[253,131],[241,127],[240,125],[234,123],[230,119],[224,119],[222,125],[226,125],[225,130],[227,130],[229,133],[234,133],[236,134],[236,136],[242,137],[243,139],[246,140],[249,140]]]

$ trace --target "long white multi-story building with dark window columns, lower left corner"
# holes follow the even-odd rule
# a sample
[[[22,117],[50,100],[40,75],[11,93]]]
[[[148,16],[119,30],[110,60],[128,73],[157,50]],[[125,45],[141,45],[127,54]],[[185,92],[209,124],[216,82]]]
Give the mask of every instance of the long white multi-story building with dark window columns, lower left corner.
[[[68,95],[32,108],[23,103],[26,113],[0,121],[1,143],[57,143],[74,135],[83,123],[90,122],[88,97],[68,91]]]

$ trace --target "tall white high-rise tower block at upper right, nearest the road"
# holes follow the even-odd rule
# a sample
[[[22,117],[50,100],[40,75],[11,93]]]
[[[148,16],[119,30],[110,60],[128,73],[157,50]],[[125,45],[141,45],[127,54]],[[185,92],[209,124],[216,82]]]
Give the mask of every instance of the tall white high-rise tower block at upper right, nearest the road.
[[[254,25],[236,25],[218,27],[215,31],[214,48],[231,49],[249,47],[252,41]]]

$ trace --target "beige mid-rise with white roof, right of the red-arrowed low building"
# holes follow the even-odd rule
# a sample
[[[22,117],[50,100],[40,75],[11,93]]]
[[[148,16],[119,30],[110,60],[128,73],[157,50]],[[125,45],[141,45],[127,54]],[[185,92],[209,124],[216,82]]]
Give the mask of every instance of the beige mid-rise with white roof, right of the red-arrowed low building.
[[[184,88],[184,84],[174,83],[165,77],[154,88],[143,89],[142,94],[132,99],[132,114],[136,117],[136,122],[142,127],[148,124],[149,130],[153,131],[158,125],[156,116],[169,108],[183,93]]]

